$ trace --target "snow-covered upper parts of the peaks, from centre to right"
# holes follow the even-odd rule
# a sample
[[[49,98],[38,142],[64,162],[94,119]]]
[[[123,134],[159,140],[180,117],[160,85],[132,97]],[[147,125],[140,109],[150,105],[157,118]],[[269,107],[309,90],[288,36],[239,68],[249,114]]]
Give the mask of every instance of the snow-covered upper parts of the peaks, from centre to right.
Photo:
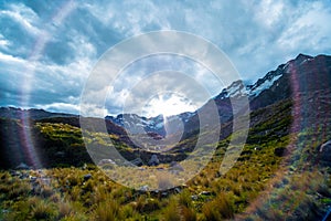
[[[314,62],[314,65],[318,65],[319,63],[321,63],[323,57],[323,55],[313,57],[305,54],[299,54],[296,59],[290,60],[286,64],[279,65],[275,71],[268,72],[263,78],[259,78],[255,84],[245,85],[244,82],[241,80],[233,82],[229,86],[224,88],[217,96],[213,97],[209,102],[214,101],[216,103],[221,122],[227,120],[232,116],[229,101],[232,97],[248,96],[248,99],[250,102],[250,108],[253,109],[266,106],[273,103],[273,101],[275,102],[276,99],[281,99],[284,97],[289,96],[290,86],[287,83],[288,74],[292,72],[293,67],[297,70],[305,67],[305,70],[307,70],[307,66],[310,65],[310,62]],[[273,97],[273,99],[270,97]],[[201,108],[204,108],[204,106],[202,106]],[[171,125],[171,131],[175,133],[175,125],[180,123],[178,122],[179,119],[184,124],[185,129],[194,129],[194,125],[199,123],[199,117],[196,116],[197,112],[182,113],[175,116],[169,116],[167,118],[164,118],[162,115],[151,118],[146,118],[138,115],[118,115],[117,117],[107,118],[120,126],[138,125],[147,133],[152,131],[161,136],[166,136],[166,126]],[[129,123],[126,123],[126,120],[128,119]]]

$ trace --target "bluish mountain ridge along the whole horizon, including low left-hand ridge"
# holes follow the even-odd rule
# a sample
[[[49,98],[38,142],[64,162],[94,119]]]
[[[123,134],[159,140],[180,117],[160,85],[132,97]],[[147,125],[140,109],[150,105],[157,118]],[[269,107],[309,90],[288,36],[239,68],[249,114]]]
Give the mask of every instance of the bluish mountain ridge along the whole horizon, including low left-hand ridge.
[[[322,64],[321,64],[322,63]],[[324,66],[323,66],[324,65]],[[254,84],[245,85],[243,81],[238,80],[233,82],[226,88],[223,88],[221,93],[214,97],[211,97],[203,106],[195,112],[184,112],[179,115],[168,116],[167,124],[171,125],[171,128],[166,129],[166,117],[158,115],[156,117],[145,117],[137,114],[119,114],[117,116],[106,116],[105,119],[111,122],[120,127],[129,128],[129,133],[139,134],[141,131],[156,133],[163,137],[171,131],[175,134],[180,128],[177,128],[179,123],[184,125],[184,130],[191,133],[199,128],[199,114],[197,112],[207,108],[207,104],[214,102],[218,108],[221,124],[231,120],[233,116],[233,109],[231,99],[236,97],[247,96],[249,99],[250,109],[258,109],[266,107],[277,101],[290,97],[292,94],[291,81],[293,73],[303,75],[322,75],[317,72],[319,66],[322,66],[323,74],[331,70],[331,56],[319,54],[317,56],[310,56],[306,54],[298,54],[295,59],[280,64],[276,70],[267,72],[263,77],[258,78]],[[316,73],[316,74],[314,74]],[[327,81],[322,81],[321,85],[328,86],[328,74],[323,76]],[[297,76],[299,77],[299,76]],[[301,77],[301,78],[302,78]],[[318,76],[314,76],[318,78]],[[321,78],[323,78],[321,77]],[[305,78],[301,81],[305,83]],[[301,84],[305,85],[305,84]],[[325,87],[324,86],[324,87]],[[311,86],[310,86],[311,87]],[[313,87],[312,90],[317,90]],[[32,119],[43,119],[49,117],[79,117],[79,115],[65,114],[65,113],[50,113],[43,109],[20,109],[15,107],[0,107],[0,117],[19,119],[26,115]],[[131,129],[135,127],[135,129]],[[168,130],[168,131],[167,131]]]

